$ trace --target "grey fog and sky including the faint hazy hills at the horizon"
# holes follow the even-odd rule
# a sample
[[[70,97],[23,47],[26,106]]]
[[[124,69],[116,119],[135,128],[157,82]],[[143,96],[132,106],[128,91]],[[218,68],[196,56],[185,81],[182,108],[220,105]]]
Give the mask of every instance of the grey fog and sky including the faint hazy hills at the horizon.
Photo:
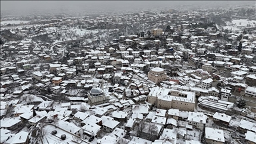
[[[255,5],[255,1],[1,1],[1,14],[91,13],[103,11],[140,11],[145,9],[179,9],[179,7],[220,7]]]

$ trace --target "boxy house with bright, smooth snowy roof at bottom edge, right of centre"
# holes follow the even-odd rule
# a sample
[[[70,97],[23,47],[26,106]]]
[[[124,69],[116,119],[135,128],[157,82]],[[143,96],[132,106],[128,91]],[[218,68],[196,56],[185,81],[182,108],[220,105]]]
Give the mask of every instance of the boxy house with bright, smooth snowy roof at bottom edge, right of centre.
[[[205,127],[205,141],[212,144],[225,143],[223,130]]]

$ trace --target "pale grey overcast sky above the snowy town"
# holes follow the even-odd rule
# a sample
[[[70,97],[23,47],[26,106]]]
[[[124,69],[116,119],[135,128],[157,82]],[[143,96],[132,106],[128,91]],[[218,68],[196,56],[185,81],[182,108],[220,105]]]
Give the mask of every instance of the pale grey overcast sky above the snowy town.
[[[163,7],[176,7],[179,5],[233,5],[234,3],[246,5],[254,1],[1,1],[2,11],[33,12],[44,10],[69,9],[72,11],[109,11],[129,9],[150,9]]]

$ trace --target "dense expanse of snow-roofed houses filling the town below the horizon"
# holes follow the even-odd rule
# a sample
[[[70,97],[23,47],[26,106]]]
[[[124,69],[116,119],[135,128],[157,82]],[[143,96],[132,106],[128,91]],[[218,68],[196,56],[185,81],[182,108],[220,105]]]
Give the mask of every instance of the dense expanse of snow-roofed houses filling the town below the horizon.
[[[255,143],[256,107],[231,99],[255,104],[256,31],[203,28],[208,15],[144,11],[11,29],[29,37],[1,45],[1,143]],[[32,39],[51,27],[139,23],[148,31],[110,43]]]

